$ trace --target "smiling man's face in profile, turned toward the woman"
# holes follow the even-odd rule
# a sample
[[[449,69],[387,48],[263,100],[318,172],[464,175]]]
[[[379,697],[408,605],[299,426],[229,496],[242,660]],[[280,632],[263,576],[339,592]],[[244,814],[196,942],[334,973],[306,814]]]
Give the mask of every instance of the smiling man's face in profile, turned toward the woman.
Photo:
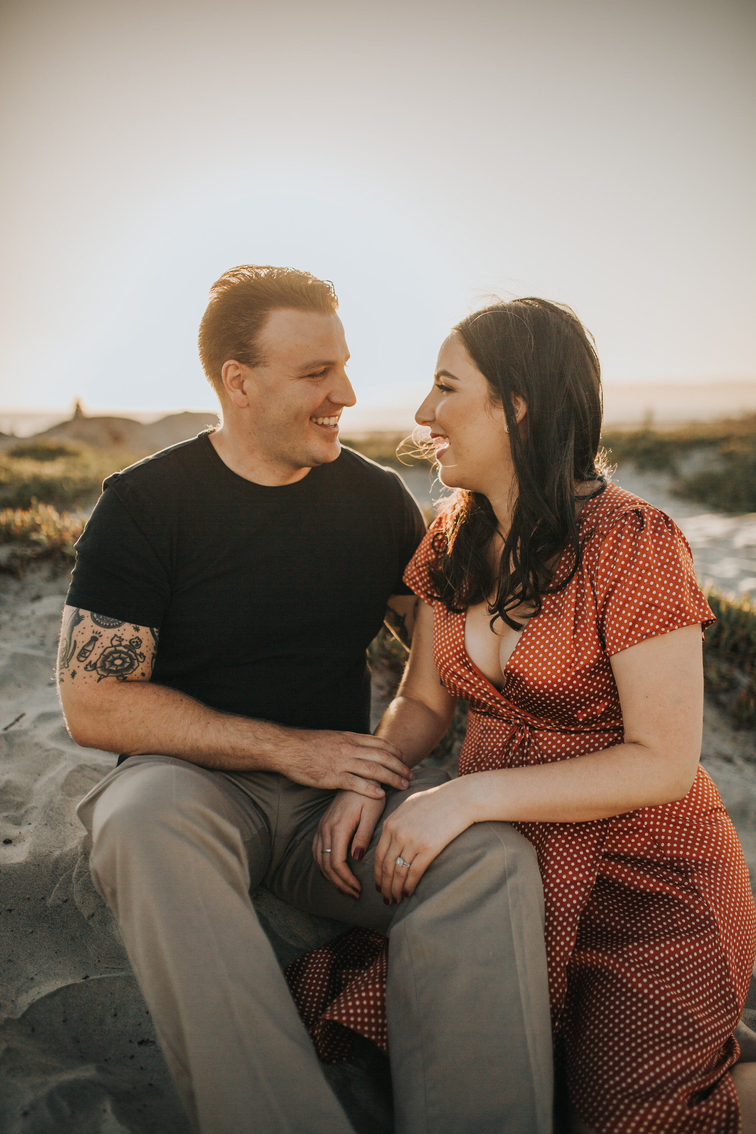
[[[273,311],[256,347],[263,364],[243,371],[257,451],[292,471],[335,460],[341,411],[356,401],[339,316]]]

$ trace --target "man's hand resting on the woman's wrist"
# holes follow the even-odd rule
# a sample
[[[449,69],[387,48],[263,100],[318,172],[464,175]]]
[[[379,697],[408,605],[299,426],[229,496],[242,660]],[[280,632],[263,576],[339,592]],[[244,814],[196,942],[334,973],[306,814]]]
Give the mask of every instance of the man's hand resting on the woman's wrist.
[[[295,784],[380,799],[381,809],[385,794],[381,784],[402,790],[415,779],[396,744],[360,733],[282,729],[271,767]]]

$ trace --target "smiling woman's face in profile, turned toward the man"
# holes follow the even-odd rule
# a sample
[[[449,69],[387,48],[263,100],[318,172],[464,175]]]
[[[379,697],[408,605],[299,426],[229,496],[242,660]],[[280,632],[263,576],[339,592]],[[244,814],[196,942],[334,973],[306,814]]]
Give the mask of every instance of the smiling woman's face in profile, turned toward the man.
[[[520,398],[515,399],[515,409],[518,420],[525,415]],[[503,407],[492,403],[489,383],[457,331],[451,332],[439,352],[433,389],[415,414],[415,421],[431,429],[440,479],[448,488],[491,497],[503,486],[502,481],[511,482],[512,460]]]

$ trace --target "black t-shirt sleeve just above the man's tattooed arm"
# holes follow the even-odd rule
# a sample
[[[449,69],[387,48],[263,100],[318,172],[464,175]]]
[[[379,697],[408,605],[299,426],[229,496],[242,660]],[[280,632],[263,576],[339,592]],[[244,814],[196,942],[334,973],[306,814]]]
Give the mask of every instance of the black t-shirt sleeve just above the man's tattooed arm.
[[[76,544],[76,566],[67,603],[159,627],[170,584],[165,553],[155,533],[145,531],[146,509],[125,483],[105,486]]]

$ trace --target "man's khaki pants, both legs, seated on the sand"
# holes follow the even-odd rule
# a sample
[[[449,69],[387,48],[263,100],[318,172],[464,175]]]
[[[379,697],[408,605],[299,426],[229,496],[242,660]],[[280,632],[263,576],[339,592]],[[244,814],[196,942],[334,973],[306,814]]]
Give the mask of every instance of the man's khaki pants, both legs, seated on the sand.
[[[410,792],[445,773],[418,770]],[[389,790],[384,814],[409,793]],[[312,857],[332,792],[274,772],[131,756],[82,801],[94,885],[113,911],[171,1074],[202,1134],[348,1134],[250,891],[389,936],[397,1134],[549,1134],[552,1044],[543,891],[530,844],[478,823],[416,894],[359,900]]]

